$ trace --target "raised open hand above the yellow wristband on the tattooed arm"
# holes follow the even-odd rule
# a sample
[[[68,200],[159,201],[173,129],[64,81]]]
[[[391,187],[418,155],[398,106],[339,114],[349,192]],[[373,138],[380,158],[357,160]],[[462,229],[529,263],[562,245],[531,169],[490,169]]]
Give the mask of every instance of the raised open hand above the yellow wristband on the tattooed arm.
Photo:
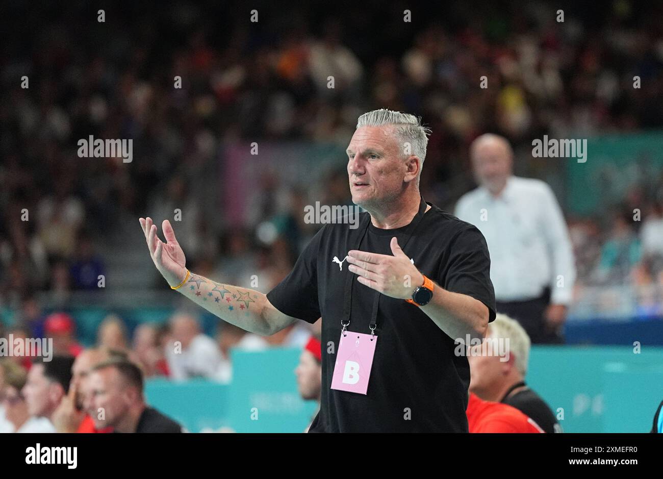
[[[164,220],[161,224],[166,238],[166,243],[164,243],[156,236],[156,225],[152,223],[151,218],[140,218],[139,221],[143,227],[154,266],[170,286],[179,285],[186,277],[186,258],[175,239],[175,232],[172,230],[170,222]]]

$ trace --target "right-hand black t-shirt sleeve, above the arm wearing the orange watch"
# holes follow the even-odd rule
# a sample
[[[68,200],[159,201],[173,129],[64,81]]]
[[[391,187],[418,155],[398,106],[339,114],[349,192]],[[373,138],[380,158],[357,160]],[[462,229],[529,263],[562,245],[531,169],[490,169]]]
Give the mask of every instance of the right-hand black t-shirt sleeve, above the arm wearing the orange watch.
[[[478,299],[495,320],[495,290],[491,282],[491,258],[483,234],[467,225],[450,245],[449,261],[440,265],[438,282],[447,291]]]

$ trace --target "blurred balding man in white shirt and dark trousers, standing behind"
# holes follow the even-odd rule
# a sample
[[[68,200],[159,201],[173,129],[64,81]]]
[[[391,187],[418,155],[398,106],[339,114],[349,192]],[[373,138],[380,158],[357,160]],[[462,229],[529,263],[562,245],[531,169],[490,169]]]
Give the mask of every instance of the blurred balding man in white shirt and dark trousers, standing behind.
[[[481,135],[470,155],[480,186],[460,198],[455,216],[486,238],[497,311],[518,320],[532,343],[562,343],[575,264],[555,195],[541,180],[513,175],[504,137]]]

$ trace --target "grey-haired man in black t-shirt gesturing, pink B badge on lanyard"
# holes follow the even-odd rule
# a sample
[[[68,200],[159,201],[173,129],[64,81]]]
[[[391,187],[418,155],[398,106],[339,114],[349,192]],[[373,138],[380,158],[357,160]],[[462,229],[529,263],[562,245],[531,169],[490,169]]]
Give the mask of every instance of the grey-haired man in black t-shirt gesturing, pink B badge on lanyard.
[[[325,224],[267,295],[191,273],[170,222],[163,243],[151,218],[140,219],[172,289],[223,320],[269,335],[322,316],[310,432],[468,431],[469,364],[455,340],[483,338],[495,318],[490,257],[475,226],[419,192],[428,132],[397,111],[359,117],[347,147],[352,200],[366,210],[359,227]]]

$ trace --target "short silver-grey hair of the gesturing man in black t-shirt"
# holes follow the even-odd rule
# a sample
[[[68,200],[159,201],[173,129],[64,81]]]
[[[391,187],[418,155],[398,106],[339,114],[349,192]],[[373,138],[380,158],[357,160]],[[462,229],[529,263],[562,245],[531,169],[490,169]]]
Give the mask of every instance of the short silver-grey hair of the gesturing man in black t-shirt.
[[[400,111],[381,108],[368,111],[357,119],[357,128],[381,127],[385,125],[393,125],[395,127],[394,131],[396,132],[398,143],[401,145],[410,143],[412,155],[415,155],[421,160],[423,167],[424,159],[426,159],[426,146],[428,145],[430,128],[422,125],[421,117],[417,118],[414,115],[410,115],[410,113],[401,113]],[[403,156],[406,157],[408,155],[403,153]]]

